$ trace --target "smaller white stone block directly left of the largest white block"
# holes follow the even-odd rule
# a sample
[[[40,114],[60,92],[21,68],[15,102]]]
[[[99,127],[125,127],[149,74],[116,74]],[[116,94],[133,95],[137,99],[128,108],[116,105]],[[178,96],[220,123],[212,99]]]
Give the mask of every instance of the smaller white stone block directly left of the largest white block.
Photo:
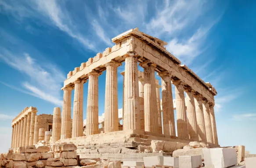
[[[195,156],[180,156],[179,157],[180,168],[198,168],[202,167],[201,155]]]

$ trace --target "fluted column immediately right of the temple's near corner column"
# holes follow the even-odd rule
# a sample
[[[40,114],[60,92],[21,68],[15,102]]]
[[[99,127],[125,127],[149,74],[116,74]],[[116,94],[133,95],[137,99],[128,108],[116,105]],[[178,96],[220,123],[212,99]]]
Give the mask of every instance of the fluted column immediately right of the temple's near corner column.
[[[145,131],[159,133],[158,107],[156,98],[155,67],[146,61],[140,63],[144,67],[144,120]]]

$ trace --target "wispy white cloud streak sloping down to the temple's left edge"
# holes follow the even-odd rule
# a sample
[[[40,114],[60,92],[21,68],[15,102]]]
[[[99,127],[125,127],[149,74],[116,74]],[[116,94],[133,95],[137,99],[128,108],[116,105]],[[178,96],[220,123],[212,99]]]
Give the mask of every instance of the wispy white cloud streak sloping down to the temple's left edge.
[[[65,76],[61,70],[50,63],[37,63],[36,59],[33,59],[29,53],[16,55],[6,49],[1,49],[1,51],[0,59],[4,60],[12,68],[25,73],[31,79],[30,82],[25,81],[22,83],[22,86],[27,91],[8,84],[5,85],[23,93],[42,98],[55,105],[62,104],[60,88],[61,83],[65,80]]]

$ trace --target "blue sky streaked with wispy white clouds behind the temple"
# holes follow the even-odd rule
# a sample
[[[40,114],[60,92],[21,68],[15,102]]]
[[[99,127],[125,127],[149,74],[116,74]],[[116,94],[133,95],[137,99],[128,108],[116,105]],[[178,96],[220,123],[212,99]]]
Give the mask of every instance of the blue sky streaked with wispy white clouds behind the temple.
[[[169,52],[216,88],[220,145],[243,144],[256,153],[255,8],[252,0],[0,0],[0,152],[11,146],[11,120],[22,109],[52,114],[62,106],[67,73],[112,47],[111,38],[138,27],[168,42]],[[105,73],[99,77],[100,115],[104,98]]]

